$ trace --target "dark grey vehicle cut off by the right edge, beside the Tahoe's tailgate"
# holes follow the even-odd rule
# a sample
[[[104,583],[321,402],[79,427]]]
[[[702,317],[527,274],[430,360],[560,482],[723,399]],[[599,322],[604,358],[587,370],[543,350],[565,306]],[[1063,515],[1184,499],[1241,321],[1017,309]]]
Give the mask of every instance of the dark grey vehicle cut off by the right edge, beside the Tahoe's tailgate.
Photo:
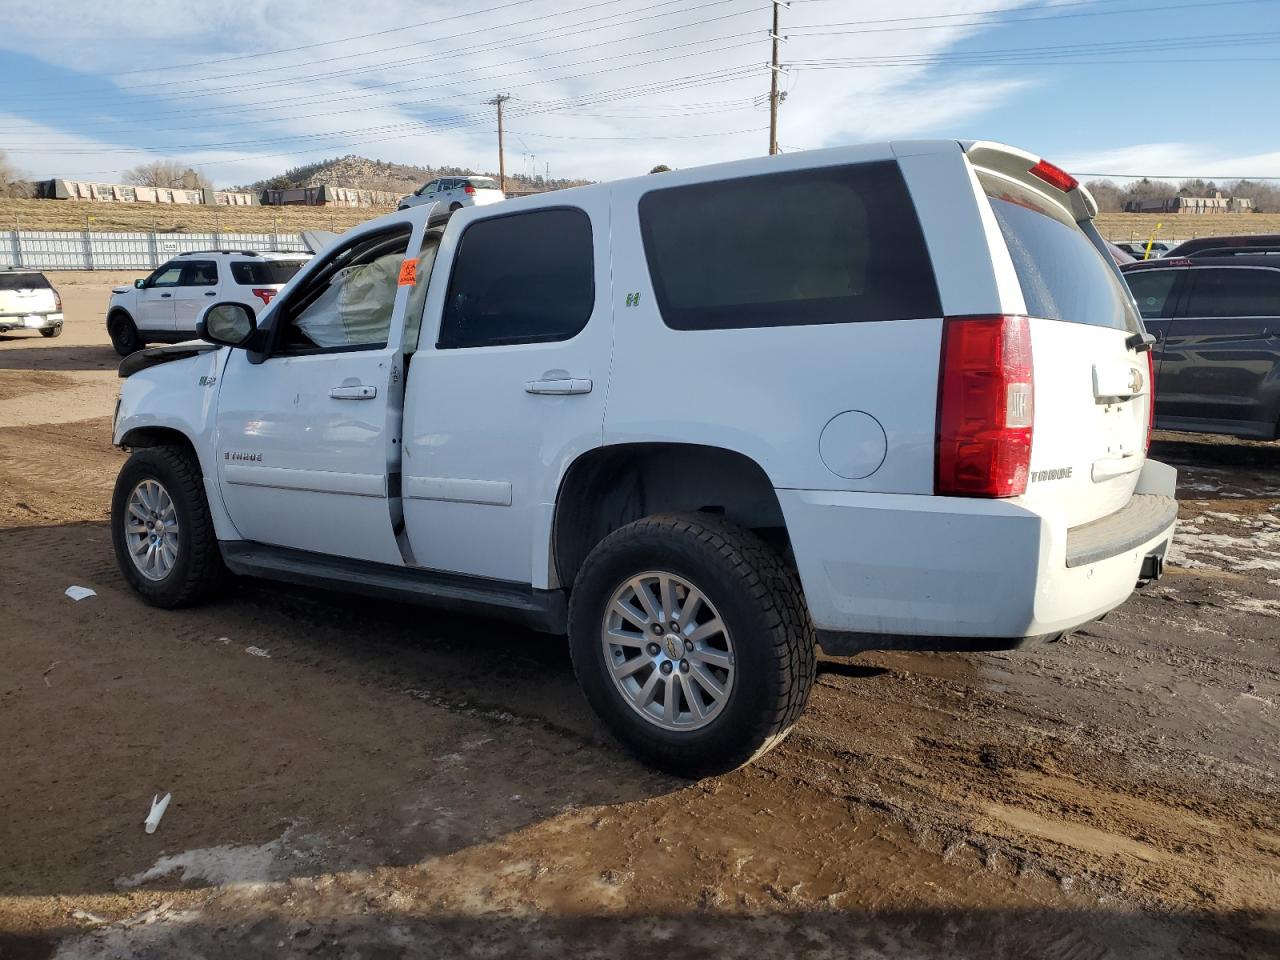
[[[1157,338],[1156,425],[1280,435],[1280,246],[1193,251],[1124,268]]]

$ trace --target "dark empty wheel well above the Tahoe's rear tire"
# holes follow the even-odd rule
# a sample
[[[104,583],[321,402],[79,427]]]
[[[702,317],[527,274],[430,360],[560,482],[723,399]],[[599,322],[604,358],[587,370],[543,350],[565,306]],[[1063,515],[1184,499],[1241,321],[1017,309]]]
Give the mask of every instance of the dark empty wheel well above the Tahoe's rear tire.
[[[750,457],[686,443],[603,447],[570,466],[556,499],[556,572],[570,586],[591,549],[618,527],[654,513],[705,512],[790,549],[773,484]]]

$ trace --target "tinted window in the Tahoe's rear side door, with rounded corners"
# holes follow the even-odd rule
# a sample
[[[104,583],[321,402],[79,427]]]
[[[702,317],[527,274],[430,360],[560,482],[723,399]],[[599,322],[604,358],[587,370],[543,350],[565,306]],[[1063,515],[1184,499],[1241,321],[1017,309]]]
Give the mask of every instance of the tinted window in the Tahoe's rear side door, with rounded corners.
[[[591,218],[568,207],[493,216],[458,241],[436,347],[567,340],[594,308]]]

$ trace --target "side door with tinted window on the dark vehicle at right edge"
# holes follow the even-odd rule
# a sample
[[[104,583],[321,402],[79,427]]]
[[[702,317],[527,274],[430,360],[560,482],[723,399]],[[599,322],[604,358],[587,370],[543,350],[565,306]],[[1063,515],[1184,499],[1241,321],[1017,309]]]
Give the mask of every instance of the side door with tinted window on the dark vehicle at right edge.
[[[1166,338],[1160,412],[1268,431],[1276,420],[1280,269],[1197,266],[1188,279]]]

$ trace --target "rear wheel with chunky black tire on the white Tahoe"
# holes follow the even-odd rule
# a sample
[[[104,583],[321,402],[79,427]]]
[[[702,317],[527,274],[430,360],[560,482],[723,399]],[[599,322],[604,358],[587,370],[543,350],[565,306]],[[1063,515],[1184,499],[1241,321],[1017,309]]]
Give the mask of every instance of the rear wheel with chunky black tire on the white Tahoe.
[[[591,550],[570,599],[570,649],[609,730],[685,777],[777,746],[817,667],[795,571],[750,531],[699,513],[639,520]]]

